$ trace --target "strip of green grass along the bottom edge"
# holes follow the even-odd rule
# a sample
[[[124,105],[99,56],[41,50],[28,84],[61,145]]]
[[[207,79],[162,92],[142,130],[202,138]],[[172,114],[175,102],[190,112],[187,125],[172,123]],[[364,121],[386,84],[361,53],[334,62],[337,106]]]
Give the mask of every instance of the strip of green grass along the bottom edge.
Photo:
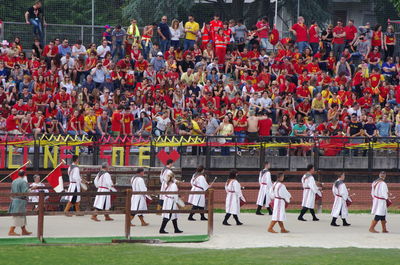
[[[207,250],[141,244],[2,246],[0,264],[399,264],[399,249],[256,248]]]

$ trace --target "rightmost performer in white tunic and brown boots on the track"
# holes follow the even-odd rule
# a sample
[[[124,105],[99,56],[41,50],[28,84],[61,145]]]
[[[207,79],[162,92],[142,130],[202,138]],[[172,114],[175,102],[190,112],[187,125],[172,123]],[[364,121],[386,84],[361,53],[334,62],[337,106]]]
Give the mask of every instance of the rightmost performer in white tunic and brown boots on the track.
[[[371,222],[369,231],[371,233],[378,233],[375,226],[381,221],[382,233],[388,233],[386,229],[386,215],[387,215],[387,200],[389,199],[389,189],[385,182],[386,172],[379,173],[379,178],[372,183],[371,196],[372,196],[372,210],[371,214],[375,215],[374,220]]]

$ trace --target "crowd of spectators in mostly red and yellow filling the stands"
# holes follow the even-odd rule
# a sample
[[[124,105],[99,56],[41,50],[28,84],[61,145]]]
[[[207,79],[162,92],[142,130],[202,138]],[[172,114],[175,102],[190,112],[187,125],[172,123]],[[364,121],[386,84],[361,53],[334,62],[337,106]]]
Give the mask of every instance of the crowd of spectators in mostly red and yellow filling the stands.
[[[393,26],[385,30],[299,17],[293,38],[279,38],[265,17],[247,28],[163,16],[106,25],[87,46],[3,40],[0,132],[400,136],[400,60]]]

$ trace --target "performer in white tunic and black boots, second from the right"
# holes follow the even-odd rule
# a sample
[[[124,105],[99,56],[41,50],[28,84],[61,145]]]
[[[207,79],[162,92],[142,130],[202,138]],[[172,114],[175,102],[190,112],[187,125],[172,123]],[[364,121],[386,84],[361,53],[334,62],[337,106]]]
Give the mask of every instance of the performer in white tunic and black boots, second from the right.
[[[332,193],[335,201],[333,202],[332,206],[332,222],[331,226],[339,226],[336,224],[336,220],[339,216],[342,217],[343,226],[349,226],[350,224],[347,223],[346,218],[349,215],[349,210],[347,208],[347,200],[351,200],[349,196],[349,192],[346,188],[346,184],[344,184],[345,174],[342,173],[339,178],[333,183],[332,186]]]

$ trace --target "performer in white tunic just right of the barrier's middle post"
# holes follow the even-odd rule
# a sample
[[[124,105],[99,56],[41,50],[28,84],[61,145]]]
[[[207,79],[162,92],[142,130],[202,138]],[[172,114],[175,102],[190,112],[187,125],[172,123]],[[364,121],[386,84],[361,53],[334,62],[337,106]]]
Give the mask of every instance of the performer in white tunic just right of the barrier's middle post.
[[[140,192],[147,191],[146,183],[144,182],[144,169],[138,168],[136,175],[131,179],[132,191]],[[151,200],[148,195],[134,194],[131,199],[131,221],[135,217],[135,211],[147,211],[147,200]],[[138,215],[142,226],[148,226],[149,224],[144,221],[143,214]],[[131,226],[135,226],[131,223]]]

